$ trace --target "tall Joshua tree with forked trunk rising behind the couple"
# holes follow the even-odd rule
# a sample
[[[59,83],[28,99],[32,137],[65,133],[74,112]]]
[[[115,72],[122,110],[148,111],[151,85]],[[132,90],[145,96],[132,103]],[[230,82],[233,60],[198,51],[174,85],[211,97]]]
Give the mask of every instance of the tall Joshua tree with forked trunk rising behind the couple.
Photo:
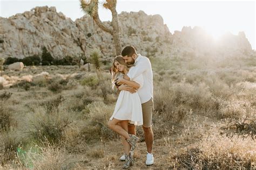
[[[98,15],[98,0],[79,0],[82,10],[93,18],[95,23],[105,32],[112,35],[114,41],[114,47],[116,48],[116,55],[120,55],[122,51],[121,41],[119,37],[119,24],[118,24],[118,14],[116,11],[117,0],[106,0],[103,4],[104,8],[109,9],[112,13],[112,27],[109,27],[99,19]]]

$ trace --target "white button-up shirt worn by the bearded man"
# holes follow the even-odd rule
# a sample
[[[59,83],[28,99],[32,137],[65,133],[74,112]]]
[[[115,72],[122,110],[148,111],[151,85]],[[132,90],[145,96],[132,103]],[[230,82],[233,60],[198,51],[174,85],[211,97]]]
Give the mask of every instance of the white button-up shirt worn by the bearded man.
[[[133,80],[138,75],[142,74],[144,83],[143,87],[138,89],[138,94],[141,103],[146,103],[153,98],[153,73],[150,60],[146,56],[138,54],[134,63],[134,68],[129,70],[127,76]]]

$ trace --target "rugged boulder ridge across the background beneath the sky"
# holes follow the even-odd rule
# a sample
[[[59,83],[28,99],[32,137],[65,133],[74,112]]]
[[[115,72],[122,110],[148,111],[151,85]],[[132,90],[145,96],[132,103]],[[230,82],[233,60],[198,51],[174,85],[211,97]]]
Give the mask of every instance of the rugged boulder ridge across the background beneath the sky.
[[[171,34],[160,15],[145,12],[119,14],[122,46],[133,45],[147,56],[244,56],[252,53],[243,32],[238,36],[226,35],[219,41],[208,36],[200,27],[184,27]],[[115,53],[112,37],[103,32],[89,16],[73,22],[55,7],[36,7],[31,11],[1,18],[0,54],[4,58],[24,58],[41,54],[45,46],[55,58],[90,55],[99,48],[103,58]],[[109,24],[110,22],[104,22]]]

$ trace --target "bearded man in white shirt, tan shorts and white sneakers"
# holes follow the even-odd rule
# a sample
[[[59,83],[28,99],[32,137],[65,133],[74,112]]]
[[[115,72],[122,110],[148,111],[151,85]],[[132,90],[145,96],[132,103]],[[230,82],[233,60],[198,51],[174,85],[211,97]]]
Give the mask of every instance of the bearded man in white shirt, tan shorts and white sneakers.
[[[144,79],[143,87],[138,90],[140,97],[140,102],[142,103],[143,111],[143,130],[145,135],[145,143],[147,146],[147,156],[146,156],[146,165],[154,164],[154,157],[152,154],[153,146],[153,131],[151,128],[152,114],[153,114],[153,74],[150,60],[136,53],[136,49],[132,46],[127,46],[122,51],[122,56],[125,62],[129,65],[135,65],[131,72],[127,73],[127,76],[130,79],[134,79],[138,75],[142,74]],[[123,84],[119,86],[119,90],[127,90],[131,93],[136,92],[130,86]],[[129,125],[128,133],[136,134],[136,126]],[[123,160],[123,156],[120,158]]]

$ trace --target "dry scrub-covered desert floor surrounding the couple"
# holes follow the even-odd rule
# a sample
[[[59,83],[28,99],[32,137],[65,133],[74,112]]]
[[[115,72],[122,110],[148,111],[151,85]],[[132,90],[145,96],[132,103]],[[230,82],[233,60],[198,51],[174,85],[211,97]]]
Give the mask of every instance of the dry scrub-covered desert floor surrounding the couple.
[[[142,139],[133,168],[256,168],[256,58],[150,58],[153,153]],[[120,137],[107,128],[118,94],[109,70],[99,80],[78,66],[4,70],[0,89],[3,168],[119,168]],[[1,79],[3,80],[3,79]]]

